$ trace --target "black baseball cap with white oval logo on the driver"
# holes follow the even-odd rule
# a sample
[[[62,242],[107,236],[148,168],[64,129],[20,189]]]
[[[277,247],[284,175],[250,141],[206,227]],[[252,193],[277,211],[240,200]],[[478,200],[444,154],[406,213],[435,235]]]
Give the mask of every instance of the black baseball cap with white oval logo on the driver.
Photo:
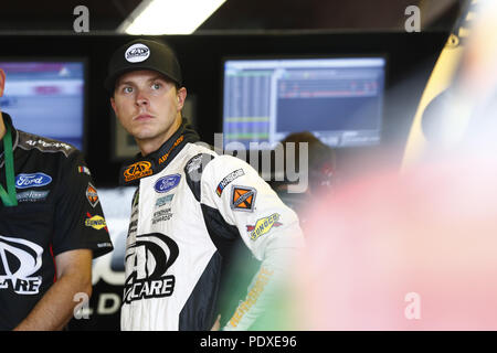
[[[134,40],[114,52],[108,63],[105,88],[114,92],[117,78],[124,73],[152,69],[182,85],[181,67],[175,52],[165,43],[150,40]]]

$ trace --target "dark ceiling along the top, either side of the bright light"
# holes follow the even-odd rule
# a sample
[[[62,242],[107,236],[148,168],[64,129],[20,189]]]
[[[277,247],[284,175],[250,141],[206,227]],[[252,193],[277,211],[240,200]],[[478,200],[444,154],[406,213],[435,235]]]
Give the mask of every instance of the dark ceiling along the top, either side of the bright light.
[[[180,0],[178,0],[180,1]],[[197,33],[272,30],[403,31],[405,8],[419,6],[422,30],[450,30],[464,0],[228,0]],[[75,7],[89,31],[113,32],[141,0],[4,1],[0,32],[72,32]]]

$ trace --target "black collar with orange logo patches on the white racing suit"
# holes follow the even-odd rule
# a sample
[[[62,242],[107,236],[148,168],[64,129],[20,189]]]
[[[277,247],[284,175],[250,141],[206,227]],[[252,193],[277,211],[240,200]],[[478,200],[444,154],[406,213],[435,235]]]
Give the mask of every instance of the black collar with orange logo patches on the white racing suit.
[[[157,151],[145,157],[138,153],[130,163],[121,168],[119,184],[135,185],[141,178],[159,173],[188,142],[194,143],[199,140],[197,131],[183,118],[178,130]]]

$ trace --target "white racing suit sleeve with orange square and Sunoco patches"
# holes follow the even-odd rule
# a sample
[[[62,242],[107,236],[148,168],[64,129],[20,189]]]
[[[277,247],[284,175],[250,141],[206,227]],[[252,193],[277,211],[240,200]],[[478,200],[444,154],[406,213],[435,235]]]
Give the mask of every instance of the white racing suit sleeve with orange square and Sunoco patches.
[[[287,279],[287,269],[304,246],[298,217],[250,164],[231,156],[216,157],[205,167],[201,189],[201,202],[219,210],[262,261],[245,299],[223,328],[248,330]]]

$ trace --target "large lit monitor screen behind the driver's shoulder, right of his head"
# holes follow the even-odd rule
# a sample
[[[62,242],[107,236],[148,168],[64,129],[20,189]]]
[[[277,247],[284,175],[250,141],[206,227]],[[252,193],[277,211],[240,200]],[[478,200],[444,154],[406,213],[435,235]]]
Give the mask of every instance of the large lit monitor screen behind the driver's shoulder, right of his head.
[[[382,56],[224,60],[224,149],[274,148],[302,131],[335,148],[380,143],[385,66]]]

